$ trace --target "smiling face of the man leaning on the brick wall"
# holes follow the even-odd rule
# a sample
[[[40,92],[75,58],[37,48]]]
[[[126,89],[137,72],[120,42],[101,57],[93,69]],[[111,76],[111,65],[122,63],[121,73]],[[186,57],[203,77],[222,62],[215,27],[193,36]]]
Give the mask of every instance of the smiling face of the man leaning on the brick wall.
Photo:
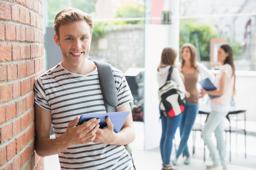
[[[63,66],[67,69],[81,66],[91,46],[92,33],[85,21],[73,21],[59,26],[59,37],[54,40],[61,47]]]

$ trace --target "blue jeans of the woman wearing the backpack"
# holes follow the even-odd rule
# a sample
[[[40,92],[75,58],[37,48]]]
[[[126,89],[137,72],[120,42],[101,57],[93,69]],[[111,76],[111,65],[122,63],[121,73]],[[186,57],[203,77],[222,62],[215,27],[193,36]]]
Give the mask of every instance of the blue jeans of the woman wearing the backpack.
[[[163,165],[170,164],[171,150],[173,147],[173,138],[177,130],[177,127],[180,125],[182,114],[175,117],[161,117],[162,137],[160,140],[160,152]]]

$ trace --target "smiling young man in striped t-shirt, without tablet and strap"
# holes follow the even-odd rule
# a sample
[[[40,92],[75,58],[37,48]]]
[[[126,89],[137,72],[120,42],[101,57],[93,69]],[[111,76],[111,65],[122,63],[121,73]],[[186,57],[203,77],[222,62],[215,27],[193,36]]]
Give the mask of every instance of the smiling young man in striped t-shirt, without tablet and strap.
[[[118,133],[109,118],[103,129],[96,118],[76,126],[80,115],[106,113],[97,67],[86,58],[92,40],[91,16],[79,9],[64,9],[56,15],[54,29],[63,60],[35,79],[37,154],[58,154],[62,170],[132,170],[131,157],[124,147],[135,139],[131,112]],[[133,98],[124,74],[114,67],[112,72],[118,97],[116,110],[130,111]],[[51,124],[54,139],[49,136]]]

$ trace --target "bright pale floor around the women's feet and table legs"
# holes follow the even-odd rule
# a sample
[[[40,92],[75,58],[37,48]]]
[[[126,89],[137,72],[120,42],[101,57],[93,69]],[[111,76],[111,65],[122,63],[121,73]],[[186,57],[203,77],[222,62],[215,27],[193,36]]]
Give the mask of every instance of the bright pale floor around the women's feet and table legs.
[[[248,128],[253,128],[256,130],[256,123],[252,125],[247,125]],[[143,122],[134,122],[136,136],[137,138],[131,144],[132,146],[132,155],[135,161],[137,170],[161,170],[162,160],[159,152],[159,148],[153,150],[145,151],[144,148],[144,123]],[[176,133],[178,134],[178,133]],[[229,137],[227,135],[227,137]],[[237,137],[237,138],[236,138]],[[179,141],[179,136],[175,136],[176,142]],[[236,139],[237,144],[236,144]],[[245,158],[245,140],[243,134],[234,134],[231,135],[231,162],[229,162],[229,141],[227,141],[227,169],[228,170],[256,170],[256,136],[247,135],[247,157]],[[189,137],[188,141],[189,151],[192,153],[192,135]],[[205,166],[212,164],[211,158],[209,156],[209,151],[206,148],[206,161],[204,161],[204,143],[200,138],[200,132],[196,133],[196,144],[195,144],[195,154],[191,155],[191,163],[189,165],[184,165],[184,159],[180,157],[177,162],[177,168],[180,170],[206,170]],[[175,149],[171,158],[175,157]],[[45,170],[60,170],[58,163],[57,155],[50,157],[45,157]]]

